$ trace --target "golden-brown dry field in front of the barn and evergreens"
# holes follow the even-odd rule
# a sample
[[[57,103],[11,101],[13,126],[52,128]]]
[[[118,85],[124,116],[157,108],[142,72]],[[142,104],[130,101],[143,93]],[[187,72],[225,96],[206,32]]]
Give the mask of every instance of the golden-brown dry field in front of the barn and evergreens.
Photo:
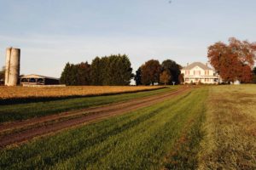
[[[102,94],[121,94],[150,89],[163,88],[159,86],[71,86],[64,88],[28,88],[0,87],[0,99],[30,98],[30,97],[66,97],[90,96]]]

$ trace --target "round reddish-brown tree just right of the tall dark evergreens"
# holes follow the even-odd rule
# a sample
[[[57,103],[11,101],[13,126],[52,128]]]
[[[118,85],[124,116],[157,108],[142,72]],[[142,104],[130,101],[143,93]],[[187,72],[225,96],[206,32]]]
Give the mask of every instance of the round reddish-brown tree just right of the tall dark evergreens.
[[[141,66],[143,85],[154,85],[154,82],[160,82],[161,66],[158,60],[150,59]]]

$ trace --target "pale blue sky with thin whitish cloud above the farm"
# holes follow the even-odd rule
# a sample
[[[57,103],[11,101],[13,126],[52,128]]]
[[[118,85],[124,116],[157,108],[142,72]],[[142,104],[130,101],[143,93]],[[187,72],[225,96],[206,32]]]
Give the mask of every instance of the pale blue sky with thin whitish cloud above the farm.
[[[0,66],[20,48],[20,74],[61,77],[67,62],[127,54],[133,72],[148,59],[207,62],[229,37],[256,41],[255,0],[0,0]]]

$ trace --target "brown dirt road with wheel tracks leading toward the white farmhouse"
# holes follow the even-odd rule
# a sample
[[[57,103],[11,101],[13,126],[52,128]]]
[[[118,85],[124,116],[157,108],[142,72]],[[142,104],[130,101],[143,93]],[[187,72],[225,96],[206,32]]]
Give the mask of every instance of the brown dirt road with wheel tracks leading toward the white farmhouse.
[[[96,122],[109,116],[135,111],[149,105],[154,105],[177,94],[183,94],[190,88],[184,87],[166,94],[157,94],[141,99],[132,99],[112,105],[87,108],[79,111],[68,111],[61,114],[41,116],[20,122],[9,122],[0,125],[0,147],[9,144],[19,144],[38,136],[54,133],[67,127],[81,126],[84,123]]]

